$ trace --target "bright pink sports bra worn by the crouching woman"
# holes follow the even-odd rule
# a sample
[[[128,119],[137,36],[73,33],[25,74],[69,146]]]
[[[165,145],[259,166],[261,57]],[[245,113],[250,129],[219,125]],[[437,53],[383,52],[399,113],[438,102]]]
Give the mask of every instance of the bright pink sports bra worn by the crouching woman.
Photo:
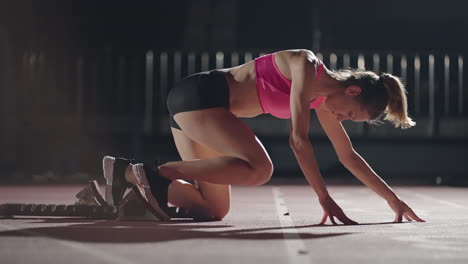
[[[289,95],[291,93],[291,81],[281,74],[275,63],[275,54],[267,54],[255,59],[255,72],[257,76],[257,93],[263,113],[269,113],[275,117],[291,118]],[[317,68],[317,79],[323,72],[323,63]],[[319,107],[325,100],[325,96],[319,96],[310,102],[310,109]]]

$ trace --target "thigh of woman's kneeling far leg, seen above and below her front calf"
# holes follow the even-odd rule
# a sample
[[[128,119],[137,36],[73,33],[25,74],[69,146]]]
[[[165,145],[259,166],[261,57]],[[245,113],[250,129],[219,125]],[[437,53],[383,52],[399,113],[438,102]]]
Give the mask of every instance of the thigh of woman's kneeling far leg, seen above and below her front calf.
[[[222,156],[187,137],[182,130],[171,128],[176,148],[182,160],[207,159]],[[231,186],[197,181],[197,185],[205,200],[211,206],[229,210]],[[221,208],[220,208],[221,209]]]

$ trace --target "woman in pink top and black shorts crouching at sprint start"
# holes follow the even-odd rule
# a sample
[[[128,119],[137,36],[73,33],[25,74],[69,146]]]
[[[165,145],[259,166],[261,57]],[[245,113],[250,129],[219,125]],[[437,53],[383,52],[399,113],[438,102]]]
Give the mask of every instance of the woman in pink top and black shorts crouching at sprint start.
[[[354,150],[341,121],[415,125],[407,112],[406,90],[391,74],[326,68],[309,50],[285,50],[245,64],[190,75],[168,94],[170,125],[182,161],[137,163],[103,159],[106,198],[112,205],[135,185],[162,220],[171,218],[168,203],[198,218],[222,219],[228,212],[231,185],[266,183],[273,164],[260,140],[239,119],[269,113],[290,119],[289,144],[323,208],[321,224],[357,224],[328,193],[309,140],[310,109],[333,144],[340,162],[384,198],[394,222],[420,221],[413,210]]]

